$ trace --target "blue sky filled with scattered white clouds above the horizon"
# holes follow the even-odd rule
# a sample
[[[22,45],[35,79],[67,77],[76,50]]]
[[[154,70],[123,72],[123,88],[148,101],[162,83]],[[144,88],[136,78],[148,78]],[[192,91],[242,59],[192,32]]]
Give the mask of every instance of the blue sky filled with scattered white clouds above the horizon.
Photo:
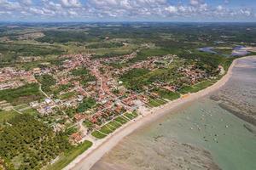
[[[0,21],[256,22],[256,0],[0,0]]]

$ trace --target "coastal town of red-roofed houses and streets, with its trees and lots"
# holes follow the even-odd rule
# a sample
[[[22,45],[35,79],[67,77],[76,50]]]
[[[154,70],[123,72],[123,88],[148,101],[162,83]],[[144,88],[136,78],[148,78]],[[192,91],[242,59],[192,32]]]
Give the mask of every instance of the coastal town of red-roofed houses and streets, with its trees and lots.
[[[22,114],[32,109],[38,112],[38,119],[48,122],[55,132],[73,128],[69,138],[73,144],[78,144],[84,139],[105,137],[124,122],[135,118],[140,107],[151,108],[170,101],[161,97],[154,88],[170,94],[175,94],[180,88],[177,84],[158,80],[143,86],[142,90],[132,90],[119,78],[129,71],[157,71],[170,67],[175,62],[180,65],[177,68],[178,74],[188,85],[213,78],[205,71],[197,69],[195,65],[185,66],[182,59],[172,54],[154,56],[121,68],[111,65],[115,62],[125,63],[136,56],[137,53],[134,52],[110,59],[93,59],[92,54],[70,54],[60,56],[60,59],[63,59],[60,66],[45,65],[32,71],[5,67],[0,70],[1,90],[20,88],[25,84],[38,84],[43,97],[27,103],[25,107],[11,105],[2,100],[1,110],[14,110]],[[46,77],[45,80],[42,77]],[[46,87],[49,79],[53,79],[54,83]]]

